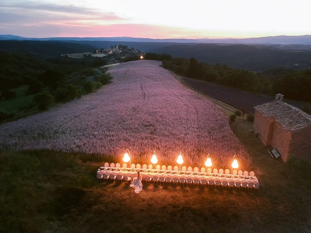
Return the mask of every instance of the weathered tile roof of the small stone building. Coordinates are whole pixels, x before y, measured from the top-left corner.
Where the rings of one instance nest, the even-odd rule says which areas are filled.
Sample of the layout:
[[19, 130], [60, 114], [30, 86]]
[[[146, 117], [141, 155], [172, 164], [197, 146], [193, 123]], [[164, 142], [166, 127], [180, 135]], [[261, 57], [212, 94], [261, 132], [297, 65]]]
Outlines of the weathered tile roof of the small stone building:
[[283, 101], [272, 101], [254, 107], [267, 119], [273, 118], [285, 130], [297, 130], [311, 125], [311, 116]]

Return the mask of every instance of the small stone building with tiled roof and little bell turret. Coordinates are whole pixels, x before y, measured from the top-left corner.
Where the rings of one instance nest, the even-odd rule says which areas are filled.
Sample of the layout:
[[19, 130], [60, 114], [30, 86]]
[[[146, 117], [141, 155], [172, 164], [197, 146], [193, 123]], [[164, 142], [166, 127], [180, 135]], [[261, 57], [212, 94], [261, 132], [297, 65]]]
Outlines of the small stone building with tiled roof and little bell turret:
[[283, 161], [295, 154], [311, 162], [311, 116], [297, 107], [276, 100], [255, 106], [254, 131], [263, 144], [271, 145]]

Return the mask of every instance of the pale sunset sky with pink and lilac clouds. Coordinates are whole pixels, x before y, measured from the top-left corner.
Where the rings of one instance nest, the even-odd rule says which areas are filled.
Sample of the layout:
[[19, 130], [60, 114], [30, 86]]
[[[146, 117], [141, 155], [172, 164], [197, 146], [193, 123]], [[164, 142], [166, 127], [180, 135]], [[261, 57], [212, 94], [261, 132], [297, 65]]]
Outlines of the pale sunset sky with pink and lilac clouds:
[[310, 0], [0, 0], [0, 34], [249, 38], [311, 34]]

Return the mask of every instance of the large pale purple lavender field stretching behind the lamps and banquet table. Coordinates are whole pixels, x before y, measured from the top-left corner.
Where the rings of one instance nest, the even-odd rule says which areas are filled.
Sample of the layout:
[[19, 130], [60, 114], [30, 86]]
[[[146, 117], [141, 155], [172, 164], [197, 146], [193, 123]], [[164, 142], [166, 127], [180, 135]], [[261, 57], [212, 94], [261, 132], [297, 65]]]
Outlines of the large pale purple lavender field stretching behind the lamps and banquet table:
[[0, 149], [52, 149], [111, 155], [121, 162], [230, 168], [234, 154], [241, 169], [250, 159], [220, 107], [181, 85], [158, 61], [122, 63], [109, 71], [113, 82], [96, 93], [37, 115], [0, 126]]

